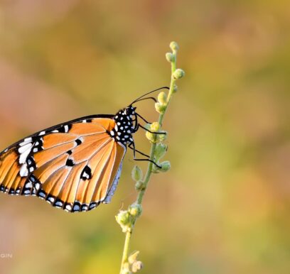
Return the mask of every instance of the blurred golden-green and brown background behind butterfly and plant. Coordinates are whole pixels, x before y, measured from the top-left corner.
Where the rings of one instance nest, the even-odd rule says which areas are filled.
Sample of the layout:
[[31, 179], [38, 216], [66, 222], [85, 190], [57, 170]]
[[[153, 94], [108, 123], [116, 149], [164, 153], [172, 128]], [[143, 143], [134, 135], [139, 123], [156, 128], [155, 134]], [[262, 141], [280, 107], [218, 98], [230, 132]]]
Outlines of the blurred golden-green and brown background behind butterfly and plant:
[[[164, 123], [172, 169], [152, 178], [132, 239], [142, 273], [290, 273], [289, 31], [285, 0], [2, 0], [0, 150], [168, 85], [176, 40], [186, 77]], [[88, 213], [0, 194], [1, 273], [118, 273], [132, 158]]]

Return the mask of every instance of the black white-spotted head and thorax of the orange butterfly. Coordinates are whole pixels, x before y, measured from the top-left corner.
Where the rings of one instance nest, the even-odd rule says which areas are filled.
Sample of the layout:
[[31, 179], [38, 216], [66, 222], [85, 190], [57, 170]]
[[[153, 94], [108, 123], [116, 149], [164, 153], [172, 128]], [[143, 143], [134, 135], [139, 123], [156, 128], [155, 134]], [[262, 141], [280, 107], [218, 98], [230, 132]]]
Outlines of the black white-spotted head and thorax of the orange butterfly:
[[133, 106], [128, 106], [118, 111], [114, 116], [116, 125], [109, 132], [112, 138], [124, 146], [134, 142], [132, 134], [136, 132], [136, 125], [134, 123], [136, 121], [135, 109]]

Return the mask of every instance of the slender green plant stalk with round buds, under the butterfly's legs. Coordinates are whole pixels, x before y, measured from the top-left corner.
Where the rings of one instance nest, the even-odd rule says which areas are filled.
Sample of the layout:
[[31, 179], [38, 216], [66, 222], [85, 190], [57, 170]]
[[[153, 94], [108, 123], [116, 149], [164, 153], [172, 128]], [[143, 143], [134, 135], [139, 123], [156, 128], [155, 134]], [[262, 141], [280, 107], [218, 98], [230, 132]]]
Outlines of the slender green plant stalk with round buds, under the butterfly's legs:
[[[173, 94], [177, 91], [176, 80], [184, 76], [183, 70], [176, 69], [176, 57], [178, 50], [177, 43], [171, 42], [170, 48], [172, 50], [172, 53], [166, 53], [166, 60], [168, 60], [168, 62], [171, 62], [170, 89], [167, 96], [164, 92], [161, 92], [158, 96], [158, 102], [156, 102], [155, 104], [155, 109], [157, 112], [159, 112], [159, 120], [158, 122], [154, 122], [151, 125], [147, 126], [147, 129], [149, 129], [151, 132], [161, 131], [164, 114], [168, 109], [168, 105], [171, 102]], [[117, 214], [116, 216], [117, 222], [122, 227], [122, 231], [126, 233], [120, 274], [136, 273], [142, 267], [141, 262], [137, 261], [137, 255], [139, 251], [136, 251], [129, 256], [131, 234], [133, 233], [136, 220], [141, 215], [141, 203], [144, 198], [144, 194], [148, 187], [152, 173], [165, 172], [170, 169], [170, 163], [168, 161], [159, 163], [159, 160], [163, 157], [163, 155], [165, 155], [167, 150], [167, 146], [163, 144], [166, 135], [149, 133], [147, 131], [146, 137], [151, 142], [149, 159], [154, 161], [155, 163], [158, 163], [161, 168], [157, 168], [156, 165], [154, 165], [152, 162], [149, 162], [144, 179], [142, 179], [142, 171], [138, 166], [135, 166], [132, 170], [132, 177], [136, 181], [136, 190], [138, 191], [136, 202], [134, 202], [134, 204], [131, 204], [129, 206], [129, 209], [120, 211], [119, 214]]]

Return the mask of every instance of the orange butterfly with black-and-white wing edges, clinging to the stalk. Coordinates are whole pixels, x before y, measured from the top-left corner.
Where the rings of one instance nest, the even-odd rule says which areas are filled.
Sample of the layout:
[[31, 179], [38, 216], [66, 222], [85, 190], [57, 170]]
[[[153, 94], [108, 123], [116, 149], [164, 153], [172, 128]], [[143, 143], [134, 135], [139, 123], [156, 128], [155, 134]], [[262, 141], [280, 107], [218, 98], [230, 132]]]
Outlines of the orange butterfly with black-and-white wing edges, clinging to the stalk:
[[[149, 131], [139, 124], [138, 118], [148, 121], [136, 113], [133, 104], [154, 99], [146, 97], [152, 92], [117, 114], [68, 121], [9, 146], [0, 153], [0, 192], [40, 197], [66, 212], [87, 212], [109, 203], [127, 148], [134, 151], [134, 160], [154, 163], [149, 155], [136, 150], [133, 138], [140, 127]], [[136, 152], [146, 159], [136, 159]]]

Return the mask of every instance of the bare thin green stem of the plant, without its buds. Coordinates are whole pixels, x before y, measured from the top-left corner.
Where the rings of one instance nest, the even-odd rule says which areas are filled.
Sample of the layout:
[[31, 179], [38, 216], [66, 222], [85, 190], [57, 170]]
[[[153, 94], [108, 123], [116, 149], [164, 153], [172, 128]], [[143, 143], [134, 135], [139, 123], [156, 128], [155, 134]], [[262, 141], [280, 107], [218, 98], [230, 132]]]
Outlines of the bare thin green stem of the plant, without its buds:
[[[167, 99], [166, 99], [166, 108], [164, 109], [162, 114], [159, 114], [159, 120], [158, 121], [159, 121], [160, 127], [163, 124], [164, 114], [166, 113], [168, 105], [169, 105], [169, 103], [171, 101], [171, 97], [172, 97], [172, 95], [174, 93], [174, 87], [175, 87], [176, 79], [173, 77], [173, 73], [176, 71], [176, 53], [177, 53], [177, 51], [173, 50], [174, 61], [171, 62], [171, 84], [170, 84], [168, 96], [167, 96]], [[150, 150], [150, 158], [149, 158], [152, 161], [154, 161], [154, 155], [155, 155], [155, 152], [156, 152], [155, 150], [156, 150], [156, 143], [152, 143], [151, 144], [151, 150]], [[147, 170], [146, 170], [146, 175], [145, 175], [144, 180], [143, 180], [144, 187], [138, 193], [138, 196], [137, 196], [137, 199], [136, 199], [136, 202], [135, 202], [136, 204], [140, 204], [141, 205], [141, 203], [142, 203], [144, 194], [146, 192], [149, 180], [150, 180], [151, 175], [152, 175], [153, 165], [154, 165], [153, 163], [149, 162]], [[131, 234], [133, 232], [135, 224], [136, 224], [136, 218], [134, 219], [133, 224], [131, 224], [131, 229], [129, 229], [126, 232], [124, 250], [123, 250], [123, 255], [122, 255], [122, 265], [121, 265], [121, 271], [120, 271], [121, 274], [122, 274], [122, 270], [124, 269], [124, 265], [126, 263], [128, 263]]]

